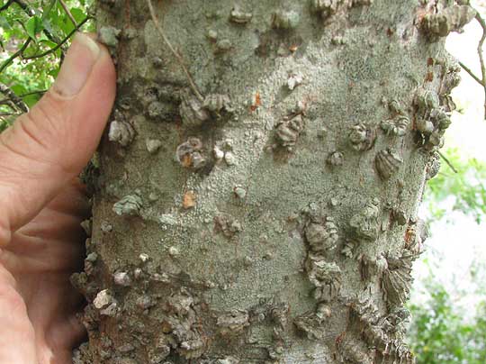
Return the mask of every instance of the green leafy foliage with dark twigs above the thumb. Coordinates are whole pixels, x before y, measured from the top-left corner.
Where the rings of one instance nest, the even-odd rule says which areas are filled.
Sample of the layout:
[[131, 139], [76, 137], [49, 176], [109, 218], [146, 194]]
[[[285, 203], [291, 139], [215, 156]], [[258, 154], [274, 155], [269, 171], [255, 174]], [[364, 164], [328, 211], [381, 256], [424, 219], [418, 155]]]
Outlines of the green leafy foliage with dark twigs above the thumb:
[[0, 0], [0, 86], [7, 89], [0, 100], [0, 131], [49, 88], [76, 30], [94, 30], [90, 5], [91, 0]]

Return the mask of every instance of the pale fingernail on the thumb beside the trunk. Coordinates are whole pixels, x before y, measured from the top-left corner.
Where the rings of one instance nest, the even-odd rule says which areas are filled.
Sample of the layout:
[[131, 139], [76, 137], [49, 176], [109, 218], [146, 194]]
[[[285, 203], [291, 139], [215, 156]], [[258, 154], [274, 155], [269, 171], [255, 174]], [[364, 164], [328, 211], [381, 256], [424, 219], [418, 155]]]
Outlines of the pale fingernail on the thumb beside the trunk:
[[100, 55], [100, 48], [87, 35], [78, 32], [67, 50], [53, 88], [60, 96], [76, 96]]

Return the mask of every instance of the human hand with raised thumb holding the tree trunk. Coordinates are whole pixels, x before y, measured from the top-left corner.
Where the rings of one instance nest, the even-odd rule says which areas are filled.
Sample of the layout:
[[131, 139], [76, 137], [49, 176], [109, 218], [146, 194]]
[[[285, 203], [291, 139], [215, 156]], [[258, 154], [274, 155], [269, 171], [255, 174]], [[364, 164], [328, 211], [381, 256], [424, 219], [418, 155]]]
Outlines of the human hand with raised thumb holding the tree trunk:
[[0, 364], [66, 364], [85, 332], [69, 276], [88, 214], [76, 176], [115, 96], [107, 50], [78, 33], [55, 84], [0, 134]]

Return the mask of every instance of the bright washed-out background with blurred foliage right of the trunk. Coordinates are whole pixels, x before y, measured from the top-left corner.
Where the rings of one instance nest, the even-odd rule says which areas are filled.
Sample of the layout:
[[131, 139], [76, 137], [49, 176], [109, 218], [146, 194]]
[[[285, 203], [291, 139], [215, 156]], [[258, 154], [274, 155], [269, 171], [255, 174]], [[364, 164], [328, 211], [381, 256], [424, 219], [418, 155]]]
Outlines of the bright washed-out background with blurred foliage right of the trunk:
[[[472, 1], [486, 15], [486, 1]], [[446, 42], [457, 59], [481, 75], [478, 23]], [[484, 55], [484, 51], [483, 51]], [[486, 363], [486, 121], [482, 86], [466, 72], [454, 93], [458, 112], [446, 134], [443, 160], [428, 183], [421, 215], [431, 236], [414, 265], [409, 341], [419, 364]]]

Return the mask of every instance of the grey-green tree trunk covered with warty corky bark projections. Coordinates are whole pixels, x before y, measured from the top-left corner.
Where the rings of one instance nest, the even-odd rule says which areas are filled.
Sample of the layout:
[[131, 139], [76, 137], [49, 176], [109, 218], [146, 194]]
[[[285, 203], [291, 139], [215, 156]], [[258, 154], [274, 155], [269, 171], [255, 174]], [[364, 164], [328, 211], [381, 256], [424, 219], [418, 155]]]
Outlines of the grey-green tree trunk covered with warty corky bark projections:
[[[412, 363], [453, 1], [100, 0], [118, 99], [75, 363]], [[171, 50], [172, 49], [172, 50]]]

